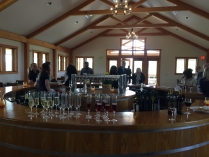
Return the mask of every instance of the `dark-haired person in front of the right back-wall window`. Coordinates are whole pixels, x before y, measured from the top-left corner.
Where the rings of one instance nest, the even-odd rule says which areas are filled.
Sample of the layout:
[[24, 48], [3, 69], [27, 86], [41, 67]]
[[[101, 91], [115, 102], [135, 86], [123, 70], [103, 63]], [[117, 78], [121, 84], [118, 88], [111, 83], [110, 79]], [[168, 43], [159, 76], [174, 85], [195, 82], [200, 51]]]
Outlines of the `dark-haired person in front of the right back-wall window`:
[[197, 80], [195, 80], [192, 77], [192, 70], [186, 69], [186, 70], [184, 70], [183, 74], [184, 74], [184, 78], [181, 80], [181, 85], [186, 86], [188, 89], [190, 86], [192, 86], [196, 89]]

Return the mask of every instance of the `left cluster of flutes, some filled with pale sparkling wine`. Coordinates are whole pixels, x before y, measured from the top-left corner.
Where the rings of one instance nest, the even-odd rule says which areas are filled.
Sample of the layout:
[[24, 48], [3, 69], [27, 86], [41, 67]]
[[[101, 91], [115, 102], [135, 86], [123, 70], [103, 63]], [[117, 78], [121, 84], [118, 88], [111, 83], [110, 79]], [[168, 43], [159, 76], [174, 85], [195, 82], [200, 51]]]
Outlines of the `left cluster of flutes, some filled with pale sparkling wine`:
[[[28, 117], [32, 118], [34, 116], [42, 115], [44, 119], [49, 119], [52, 117], [59, 117], [60, 119], [70, 118], [72, 116], [79, 118], [81, 113], [78, 111], [81, 107], [81, 95], [80, 94], [68, 94], [65, 91], [59, 92], [29, 92], [28, 104], [30, 107], [30, 112]], [[27, 98], [27, 97], [26, 97]], [[37, 107], [41, 105], [42, 111], [37, 112]], [[36, 112], [32, 112], [33, 106], [36, 106]], [[53, 112], [54, 106], [56, 107], [55, 112]], [[76, 114], [72, 112], [73, 106], [76, 109]], [[57, 111], [59, 107], [60, 111]], [[68, 110], [65, 113], [65, 110]]]

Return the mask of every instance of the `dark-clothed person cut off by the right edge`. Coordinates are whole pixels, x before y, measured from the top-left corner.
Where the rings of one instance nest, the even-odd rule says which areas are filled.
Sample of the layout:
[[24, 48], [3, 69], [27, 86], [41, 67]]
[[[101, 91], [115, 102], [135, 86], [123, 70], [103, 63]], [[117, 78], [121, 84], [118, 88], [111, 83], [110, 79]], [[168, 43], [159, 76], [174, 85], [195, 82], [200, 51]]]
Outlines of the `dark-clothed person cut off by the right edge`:
[[209, 97], [209, 67], [203, 71], [203, 78], [200, 79], [200, 89], [205, 97]]

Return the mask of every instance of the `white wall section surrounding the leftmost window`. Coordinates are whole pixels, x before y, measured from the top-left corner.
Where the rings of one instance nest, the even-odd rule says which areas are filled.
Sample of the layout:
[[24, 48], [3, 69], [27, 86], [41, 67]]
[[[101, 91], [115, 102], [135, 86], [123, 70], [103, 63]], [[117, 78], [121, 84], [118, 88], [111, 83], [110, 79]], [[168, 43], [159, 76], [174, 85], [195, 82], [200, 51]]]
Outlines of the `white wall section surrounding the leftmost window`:
[[21, 42], [0, 38], [0, 44], [18, 47], [18, 73], [17, 74], [0, 74], [0, 82], [15, 82], [24, 79], [24, 44]]

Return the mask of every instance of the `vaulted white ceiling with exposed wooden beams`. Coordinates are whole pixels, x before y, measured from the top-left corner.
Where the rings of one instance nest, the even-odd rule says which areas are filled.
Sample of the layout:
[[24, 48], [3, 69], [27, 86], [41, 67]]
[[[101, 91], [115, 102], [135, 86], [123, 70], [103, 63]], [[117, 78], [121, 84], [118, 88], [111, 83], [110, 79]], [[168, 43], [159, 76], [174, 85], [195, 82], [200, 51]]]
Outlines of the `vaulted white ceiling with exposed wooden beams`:
[[171, 35], [209, 50], [208, 0], [128, 2], [131, 14], [113, 16], [114, 0], [0, 0], [0, 37], [12, 33], [74, 50], [100, 36], [125, 37], [134, 28], [139, 36]]

